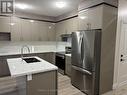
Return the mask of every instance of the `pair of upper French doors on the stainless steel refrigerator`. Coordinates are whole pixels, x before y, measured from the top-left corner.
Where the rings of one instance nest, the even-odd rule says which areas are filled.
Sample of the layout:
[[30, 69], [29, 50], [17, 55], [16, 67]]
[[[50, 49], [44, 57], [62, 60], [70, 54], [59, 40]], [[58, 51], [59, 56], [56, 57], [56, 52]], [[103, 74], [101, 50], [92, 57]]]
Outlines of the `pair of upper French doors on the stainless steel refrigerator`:
[[72, 33], [72, 65], [92, 71], [94, 62], [94, 31]]

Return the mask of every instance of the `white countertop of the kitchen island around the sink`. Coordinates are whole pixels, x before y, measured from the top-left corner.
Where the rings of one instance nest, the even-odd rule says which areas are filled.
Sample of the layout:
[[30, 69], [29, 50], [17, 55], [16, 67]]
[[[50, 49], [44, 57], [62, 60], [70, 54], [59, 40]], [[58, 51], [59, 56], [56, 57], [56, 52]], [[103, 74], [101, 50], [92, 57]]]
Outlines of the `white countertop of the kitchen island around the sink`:
[[7, 59], [11, 77], [31, 75], [35, 73], [42, 73], [58, 69], [55, 65], [39, 57], [34, 56], [34, 58], [37, 58], [41, 62], [29, 64], [23, 61], [21, 58]]

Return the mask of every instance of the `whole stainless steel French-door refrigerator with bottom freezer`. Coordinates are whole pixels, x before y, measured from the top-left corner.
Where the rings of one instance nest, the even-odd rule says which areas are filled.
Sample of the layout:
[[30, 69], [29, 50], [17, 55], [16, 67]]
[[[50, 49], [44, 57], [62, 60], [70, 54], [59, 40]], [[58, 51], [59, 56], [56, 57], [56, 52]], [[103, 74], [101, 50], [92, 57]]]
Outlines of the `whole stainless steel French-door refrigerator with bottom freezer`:
[[72, 33], [71, 83], [88, 95], [99, 95], [101, 30]]

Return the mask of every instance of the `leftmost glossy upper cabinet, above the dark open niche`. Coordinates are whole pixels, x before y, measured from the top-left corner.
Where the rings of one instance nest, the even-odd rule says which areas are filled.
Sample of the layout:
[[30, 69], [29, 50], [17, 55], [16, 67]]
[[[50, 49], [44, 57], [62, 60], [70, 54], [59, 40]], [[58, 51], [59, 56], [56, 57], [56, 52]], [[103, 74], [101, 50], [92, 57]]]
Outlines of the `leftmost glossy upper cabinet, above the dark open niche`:
[[0, 32], [11, 32], [10, 31], [10, 17], [0, 16]]

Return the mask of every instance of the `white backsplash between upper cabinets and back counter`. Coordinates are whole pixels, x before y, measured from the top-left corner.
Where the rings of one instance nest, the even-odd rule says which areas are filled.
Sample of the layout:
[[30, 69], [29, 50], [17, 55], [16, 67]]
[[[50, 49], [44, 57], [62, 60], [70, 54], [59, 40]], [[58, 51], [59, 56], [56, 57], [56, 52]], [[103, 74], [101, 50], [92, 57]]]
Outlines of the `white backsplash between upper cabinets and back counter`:
[[65, 51], [66, 46], [71, 46], [67, 42], [0, 42], [0, 55], [20, 54], [23, 45], [28, 45], [32, 53]]

